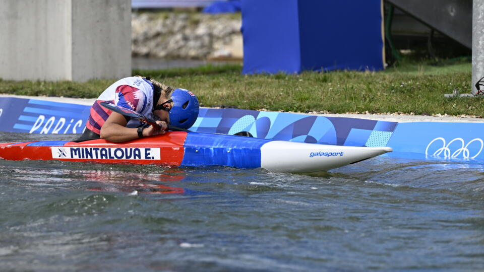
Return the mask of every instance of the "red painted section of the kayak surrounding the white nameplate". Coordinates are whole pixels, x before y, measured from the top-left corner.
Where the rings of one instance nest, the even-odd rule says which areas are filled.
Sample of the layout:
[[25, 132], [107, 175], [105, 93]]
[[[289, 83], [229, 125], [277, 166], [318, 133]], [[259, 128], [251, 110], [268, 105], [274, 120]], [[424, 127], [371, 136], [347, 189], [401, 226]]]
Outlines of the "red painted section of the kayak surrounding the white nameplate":
[[[165, 165], [165, 166], [179, 166], [181, 161], [183, 160], [184, 156], [184, 148], [183, 145], [185, 143], [185, 139], [187, 137], [187, 132], [184, 131], [171, 131], [167, 132], [163, 135], [156, 135], [153, 137], [147, 137], [142, 139], [136, 139], [130, 142], [125, 143], [112, 143], [107, 142], [105, 140], [91, 140], [85, 141], [81, 143], [75, 142], [67, 142], [62, 147], [69, 153], [71, 148], [108, 148], [111, 151], [115, 149], [122, 149], [122, 151], [130, 150], [133, 152], [136, 148], [151, 148], [159, 149], [159, 159], [126, 159], [114, 158], [114, 153], [108, 159], [97, 159], [96, 156], [94, 158], [53, 158], [52, 157], [52, 148], [56, 148], [58, 146], [29, 146], [30, 144], [35, 145], [41, 142], [27, 142], [27, 143], [7, 143], [7, 144], [0, 144], [0, 158], [5, 160], [61, 160], [61, 161], [70, 161], [70, 162], [98, 162], [98, 163], [115, 163], [115, 164], [156, 164], [156, 165]], [[153, 152], [153, 151], [150, 151]], [[79, 153], [80, 154], [80, 153]], [[116, 154], [122, 154], [119, 151]], [[142, 154], [143, 155], [143, 154]], [[81, 157], [81, 156], [79, 156]], [[91, 156], [93, 157], [93, 156]], [[99, 156], [97, 156], [99, 157]], [[122, 157], [122, 156], [119, 156]], [[124, 156], [127, 157], [127, 156]]]

